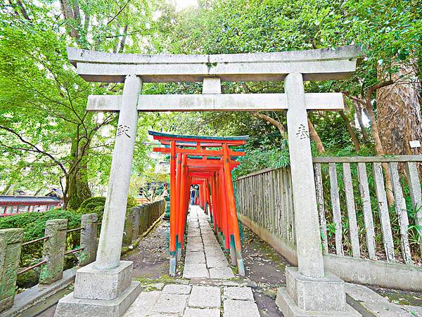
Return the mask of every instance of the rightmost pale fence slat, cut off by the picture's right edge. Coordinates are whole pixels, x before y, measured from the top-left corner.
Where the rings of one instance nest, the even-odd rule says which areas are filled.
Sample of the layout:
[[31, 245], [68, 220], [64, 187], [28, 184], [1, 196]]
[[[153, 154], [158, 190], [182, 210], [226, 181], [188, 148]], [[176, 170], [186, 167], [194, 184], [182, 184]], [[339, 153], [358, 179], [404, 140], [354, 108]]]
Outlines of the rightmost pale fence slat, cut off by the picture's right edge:
[[415, 224], [419, 227], [419, 251], [422, 257], [422, 193], [421, 183], [419, 182], [418, 166], [415, 162], [406, 162], [407, 180], [409, 183], [410, 198], [416, 212]]

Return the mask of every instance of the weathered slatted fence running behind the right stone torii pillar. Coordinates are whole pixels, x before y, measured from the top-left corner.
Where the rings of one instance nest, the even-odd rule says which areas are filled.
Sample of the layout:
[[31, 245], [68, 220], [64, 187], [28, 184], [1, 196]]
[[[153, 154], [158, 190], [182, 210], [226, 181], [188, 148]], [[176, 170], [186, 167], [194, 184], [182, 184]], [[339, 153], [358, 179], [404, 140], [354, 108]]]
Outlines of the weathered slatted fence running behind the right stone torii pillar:
[[[315, 157], [316, 198], [325, 254], [421, 264], [422, 155]], [[395, 204], [388, 206], [385, 171]], [[290, 169], [236, 180], [238, 213], [295, 245]], [[417, 263], [415, 263], [417, 262]]]

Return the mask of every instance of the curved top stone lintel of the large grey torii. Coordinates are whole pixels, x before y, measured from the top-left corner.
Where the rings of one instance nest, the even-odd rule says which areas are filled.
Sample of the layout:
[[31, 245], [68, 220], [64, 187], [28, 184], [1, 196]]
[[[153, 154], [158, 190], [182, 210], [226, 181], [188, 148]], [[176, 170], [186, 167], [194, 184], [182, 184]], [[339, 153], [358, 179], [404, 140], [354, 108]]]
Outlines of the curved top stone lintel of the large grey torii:
[[203, 82], [204, 77], [220, 77], [226, 82], [282, 81], [299, 72], [304, 80], [345, 79], [362, 57], [358, 46], [218, 55], [145, 55], [103, 53], [68, 48], [70, 63], [89, 82], [124, 82], [127, 74], [143, 82]]

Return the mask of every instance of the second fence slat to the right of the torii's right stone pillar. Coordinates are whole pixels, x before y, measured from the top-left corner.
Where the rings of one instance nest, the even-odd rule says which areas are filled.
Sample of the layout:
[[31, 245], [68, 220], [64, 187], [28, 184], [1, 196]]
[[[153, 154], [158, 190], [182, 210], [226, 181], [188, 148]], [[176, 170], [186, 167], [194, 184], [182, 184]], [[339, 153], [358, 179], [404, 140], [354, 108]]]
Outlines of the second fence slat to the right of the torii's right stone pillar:
[[340, 211], [340, 197], [338, 196], [337, 170], [335, 163], [329, 163], [331, 205], [333, 206], [333, 221], [335, 222], [335, 252], [343, 255], [342, 225]]

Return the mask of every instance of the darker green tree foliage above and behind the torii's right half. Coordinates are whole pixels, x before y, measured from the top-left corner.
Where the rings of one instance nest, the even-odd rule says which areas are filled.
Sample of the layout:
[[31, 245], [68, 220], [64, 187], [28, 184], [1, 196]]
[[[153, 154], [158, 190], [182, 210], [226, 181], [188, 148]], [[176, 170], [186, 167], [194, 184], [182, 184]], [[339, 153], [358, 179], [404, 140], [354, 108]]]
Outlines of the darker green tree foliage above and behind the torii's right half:
[[[345, 91], [351, 98], [366, 98], [369, 94], [371, 101], [376, 85], [390, 84], [379, 81], [377, 74], [380, 71], [388, 78], [388, 74], [397, 70], [397, 63], [420, 66], [421, 16], [421, 6], [412, 0], [216, 0], [203, 4], [199, 10], [177, 13], [172, 27], [167, 30], [170, 35], [163, 33], [163, 42], [171, 53], [255, 53], [335, 49], [358, 44], [366, 57], [352, 78], [306, 83], [305, 89], [309, 92]], [[179, 85], [180, 90], [185, 88]], [[283, 85], [279, 83], [224, 83], [222, 88], [225, 93], [283, 92]], [[362, 105], [357, 108], [351, 101], [347, 98], [345, 117], [357, 134], [360, 154], [374, 154], [373, 140], [365, 138], [362, 127], [354, 124], [354, 114], [362, 111]], [[369, 106], [372, 108], [371, 103]], [[267, 112], [265, 115], [283, 125], [286, 122], [282, 112]], [[264, 131], [256, 129], [256, 121], [267, 127], [267, 133], [272, 131], [275, 136], [277, 132], [275, 127], [249, 113], [198, 112], [175, 117], [179, 124], [174, 129], [180, 133], [193, 129], [205, 134], [257, 134], [264, 139]], [[328, 154], [355, 155], [356, 148], [347, 132], [346, 122], [338, 112], [315, 112], [309, 117]], [[262, 145], [253, 139], [252, 148], [262, 149]], [[279, 149], [280, 144], [278, 139], [273, 140], [274, 149]], [[260, 159], [257, 157], [257, 160]], [[261, 167], [260, 164], [257, 166]]]

